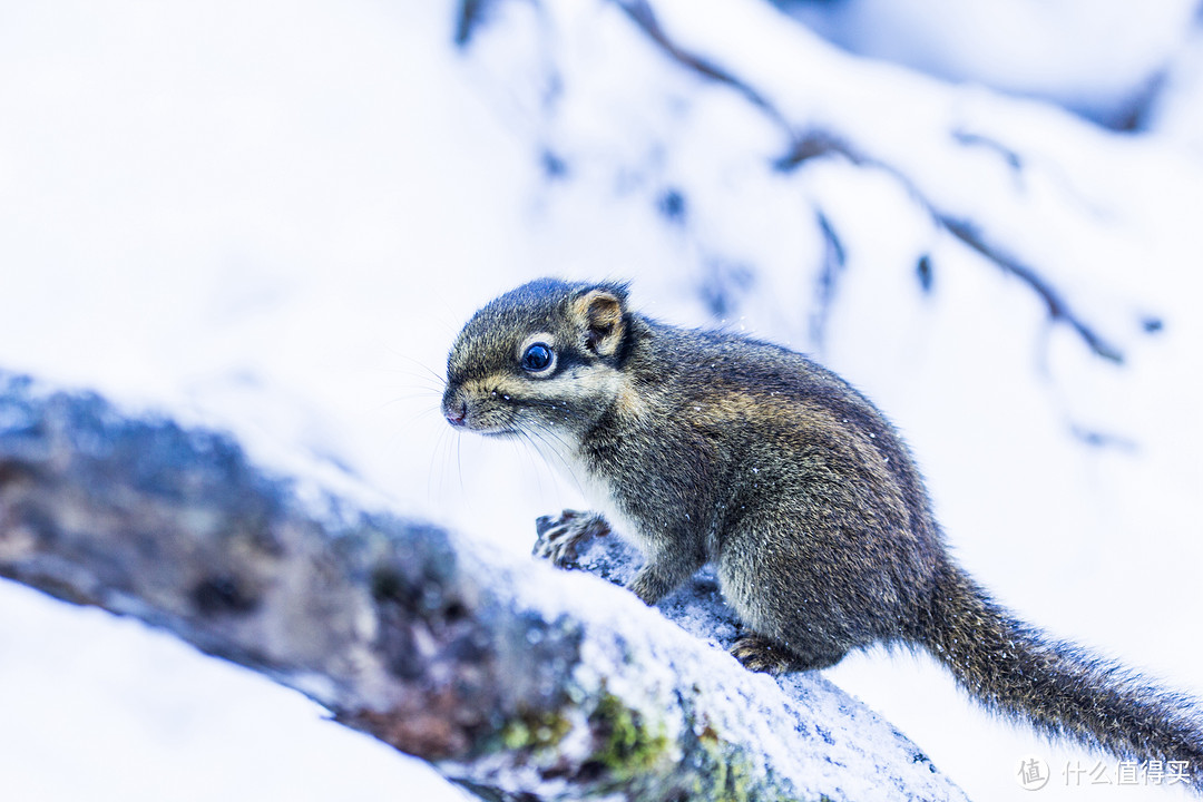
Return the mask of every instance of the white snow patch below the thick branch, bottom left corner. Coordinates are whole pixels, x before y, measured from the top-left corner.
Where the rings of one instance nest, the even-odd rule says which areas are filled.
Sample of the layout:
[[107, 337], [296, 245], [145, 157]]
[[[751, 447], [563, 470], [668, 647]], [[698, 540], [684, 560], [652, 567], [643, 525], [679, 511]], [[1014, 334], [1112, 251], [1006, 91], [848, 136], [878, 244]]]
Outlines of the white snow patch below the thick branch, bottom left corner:
[[11, 800], [467, 800], [313, 702], [131, 620], [0, 584]]

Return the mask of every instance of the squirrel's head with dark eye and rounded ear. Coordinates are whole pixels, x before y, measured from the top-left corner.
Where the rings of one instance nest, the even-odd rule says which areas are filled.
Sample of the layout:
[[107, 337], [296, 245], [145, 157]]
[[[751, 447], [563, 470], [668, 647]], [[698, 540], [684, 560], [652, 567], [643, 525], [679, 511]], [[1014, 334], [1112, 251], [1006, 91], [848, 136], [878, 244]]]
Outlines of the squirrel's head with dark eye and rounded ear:
[[624, 284], [523, 284], [456, 337], [443, 414], [482, 434], [583, 433], [623, 392], [629, 329]]

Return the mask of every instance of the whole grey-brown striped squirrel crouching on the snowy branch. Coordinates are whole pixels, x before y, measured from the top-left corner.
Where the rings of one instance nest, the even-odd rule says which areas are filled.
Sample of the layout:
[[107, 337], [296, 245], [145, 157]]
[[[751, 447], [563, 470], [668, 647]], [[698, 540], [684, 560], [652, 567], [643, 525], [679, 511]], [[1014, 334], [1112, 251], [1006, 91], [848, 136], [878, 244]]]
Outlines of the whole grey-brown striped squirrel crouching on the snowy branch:
[[[952, 558], [914, 458], [847, 381], [789, 349], [629, 308], [628, 285], [540, 279], [481, 308], [448, 357], [452, 427], [521, 436], [600, 513], [565, 512], [553, 562], [615, 530], [652, 605], [712, 563], [747, 669], [921, 647], [988, 708], [1203, 794], [1203, 708], [1017, 619]], [[1184, 766], [1185, 765], [1185, 766]]]

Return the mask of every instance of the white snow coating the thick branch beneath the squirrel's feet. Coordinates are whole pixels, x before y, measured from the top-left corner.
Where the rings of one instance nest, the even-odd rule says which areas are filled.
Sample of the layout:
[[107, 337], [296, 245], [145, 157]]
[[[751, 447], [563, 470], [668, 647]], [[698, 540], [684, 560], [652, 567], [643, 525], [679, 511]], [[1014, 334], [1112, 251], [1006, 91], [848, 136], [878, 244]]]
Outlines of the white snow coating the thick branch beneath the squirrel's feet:
[[[620, 584], [640, 562], [635, 547], [614, 535], [583, 545], [576, 560]], [[485, 569], [493, 574], [505, 563], [491, 554]], [[529, 566], [525, 574], [532, 574]], [[645, 723], [654, 721], [647, 726], [662, 729], [670, 743], [688, 743], [683, 727], [692, 727], [695, 736], [709, 729], [731, 743], [757, 744], [766, 770], [778, 782], [788, 779], [799, 798], [964, 798], [947, 777], [932, 771], [915, 744], [820, 675], [775, 679], [745, 671], [727, 652], [739, 630], [710, 568], [657, 605], [671, 624], [630, 594], [580, 574], [557, 572], [508, 587], [514, 599], [503, 593], [503, 606], [537, 608], [552, 620], [568, 613], [568, 619], [583, 624], [575, 693], [583, 695], [600, 684], [639, 711]], [[583, 754], [573, 755], [574, 749]], [[557, 754], [583, 760], [593, 753], [589, 744], [569, 736]], [[710, 765], [697, 751], [689, 760], [691, 766]], [[741, 771], [737, 755], [730, 766], [723, 771]], [[533, 773], [531, 782], [539, 790], [556, 790], [561, 782], [541, 779], [535, 766], [518, 771], [523, 768]], [[755, 774], [749, 770], [748, 780], [757, 782]], [[638, 791], [629, 796], [644, 798]], [[759, 797], [749, 791], [748, 798]]]

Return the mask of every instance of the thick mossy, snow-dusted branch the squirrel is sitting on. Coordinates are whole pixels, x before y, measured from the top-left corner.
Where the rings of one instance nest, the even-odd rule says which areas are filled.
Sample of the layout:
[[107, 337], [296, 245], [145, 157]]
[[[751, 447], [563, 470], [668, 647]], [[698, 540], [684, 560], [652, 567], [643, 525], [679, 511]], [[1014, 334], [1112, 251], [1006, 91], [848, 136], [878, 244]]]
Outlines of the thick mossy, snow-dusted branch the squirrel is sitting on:
[[[580, 562], [621, 578], [603, 539]], [[229, 436], [0, 374], [0, 575], [161, 626], [485, 798], [964, 798], [819, 677], [662, 605], [251, 465]]]

